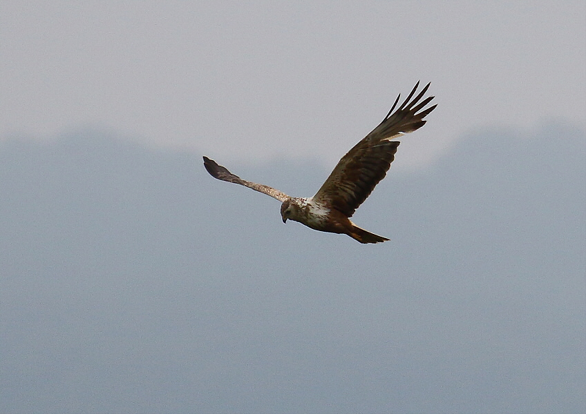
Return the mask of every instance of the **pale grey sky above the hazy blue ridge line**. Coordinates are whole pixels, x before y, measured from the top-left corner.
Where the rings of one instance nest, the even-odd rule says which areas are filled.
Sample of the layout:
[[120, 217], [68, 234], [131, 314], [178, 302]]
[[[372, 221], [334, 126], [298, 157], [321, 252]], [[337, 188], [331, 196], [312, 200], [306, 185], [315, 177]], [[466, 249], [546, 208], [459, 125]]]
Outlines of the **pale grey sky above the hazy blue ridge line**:
[[431, 81], [422, 165], [463, 132], [586, 126], [583, 1], [3, 1], [0, 137], [98, 124], [231, 161], [332, 166]]

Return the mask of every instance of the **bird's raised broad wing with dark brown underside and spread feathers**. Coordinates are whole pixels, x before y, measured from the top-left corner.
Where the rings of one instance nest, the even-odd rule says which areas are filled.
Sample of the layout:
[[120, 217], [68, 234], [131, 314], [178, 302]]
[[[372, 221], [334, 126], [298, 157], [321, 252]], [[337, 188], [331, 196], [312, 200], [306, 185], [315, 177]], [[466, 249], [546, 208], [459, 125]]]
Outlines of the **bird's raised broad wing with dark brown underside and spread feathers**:
[[411, 99], [418, 87], [419, 82], [401, 106], [393, 112], [401, 97], [399, 95], [393, 108], [390, 108], [379, 126], [340, 159], [330, 177], [314, 195], [315, 201], [352, 217], [358, 206], [385, 177], [390, 163], [395, 159], [399, 142], [390, 139], [421, 128], [426, 123], [426, 115], [435, 109], [435, 105], [424, 109], [433, 97], [427, 97], [419, 102], [427, 92], [429, 83], [419, 95]]

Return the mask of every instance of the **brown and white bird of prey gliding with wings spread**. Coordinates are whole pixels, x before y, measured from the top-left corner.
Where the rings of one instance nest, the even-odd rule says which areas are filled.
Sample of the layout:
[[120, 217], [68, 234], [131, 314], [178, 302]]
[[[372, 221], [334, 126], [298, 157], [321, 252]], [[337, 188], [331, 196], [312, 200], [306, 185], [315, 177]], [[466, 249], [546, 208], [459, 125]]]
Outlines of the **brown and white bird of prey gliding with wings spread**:
[[421, 100], [429, 83], [411, 99], [418, 87], [419, 82], [393, 112], [401, 95], [397, 97], [379, 126], [340, 159], [313, 197], [290, 197], [275, 188], [245, 181], [208, 157], [203, 157], [205, 169], [214, 178], [252, 188], [281, 201], [283, 223], [287, 219], [299, 221], [314, 230], [349, 235], [365, 244], [386, 242], [386, 237], [359, 228], [350, 217], [385, 177], [395, 159], [399, 141], [390, 140], [424, 126], [424, 118], [435, 109], [436, 105], [425, 108], [433, 97]]

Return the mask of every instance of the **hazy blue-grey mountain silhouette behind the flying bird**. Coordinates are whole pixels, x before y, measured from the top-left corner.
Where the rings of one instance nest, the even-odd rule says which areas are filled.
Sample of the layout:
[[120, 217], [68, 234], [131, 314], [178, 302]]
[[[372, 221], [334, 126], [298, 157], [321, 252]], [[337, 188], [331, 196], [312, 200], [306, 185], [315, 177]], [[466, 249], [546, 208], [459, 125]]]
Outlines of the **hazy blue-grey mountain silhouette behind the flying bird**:
[[[5, 141], [0, 411], [581, 412], [585, 156], [563, 125], [464, 137], [391, 168], [362, 246], [199, 155]], [[329, 172], [229, 167], [300, 196]]]

